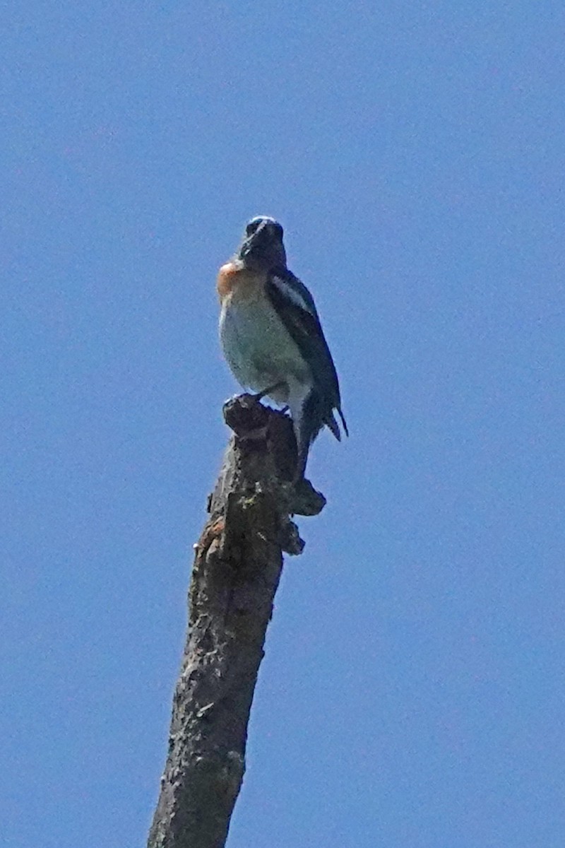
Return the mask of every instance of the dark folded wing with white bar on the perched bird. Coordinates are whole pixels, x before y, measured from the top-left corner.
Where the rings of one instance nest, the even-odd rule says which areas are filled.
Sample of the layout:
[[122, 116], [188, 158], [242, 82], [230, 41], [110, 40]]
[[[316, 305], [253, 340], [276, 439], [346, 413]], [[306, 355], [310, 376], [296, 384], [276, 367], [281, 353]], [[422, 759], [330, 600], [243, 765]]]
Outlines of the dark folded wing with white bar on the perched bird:
[[310, 366], [316, 388], [330, 405], [330, 414], [332, 409], [340, 411], [340, 386], [334, 360], [312, 295], [288, 269], [277, 269], [271, 273], [266, 291], [274, 310]]

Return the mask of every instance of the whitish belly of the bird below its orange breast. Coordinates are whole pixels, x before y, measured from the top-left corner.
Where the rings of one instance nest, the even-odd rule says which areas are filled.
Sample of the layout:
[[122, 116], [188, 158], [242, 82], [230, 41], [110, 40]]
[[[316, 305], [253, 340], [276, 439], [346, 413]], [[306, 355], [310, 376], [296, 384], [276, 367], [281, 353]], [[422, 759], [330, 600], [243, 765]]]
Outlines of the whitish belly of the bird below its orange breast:
[[296, 343], [265, 298], [237, 303], [226, 298], [219, 335], [225, 358], [242, 386], [263, 392], [283, 382], [285, 386], [270, 397], [285, 404], [293, 385], [310, 382], [308, 366]]

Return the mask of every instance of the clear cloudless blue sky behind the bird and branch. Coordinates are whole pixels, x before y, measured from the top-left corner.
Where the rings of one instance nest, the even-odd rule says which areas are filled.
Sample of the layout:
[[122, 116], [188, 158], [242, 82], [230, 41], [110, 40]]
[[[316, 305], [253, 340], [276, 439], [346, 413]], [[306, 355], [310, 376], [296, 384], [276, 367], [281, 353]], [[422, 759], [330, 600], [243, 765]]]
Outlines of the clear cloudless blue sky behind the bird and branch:
[[277, 595], [230, 848], [562, 848], [565, 7], [3, 3], [0, 844], [144, 845], [285, 226], [351, 438]]

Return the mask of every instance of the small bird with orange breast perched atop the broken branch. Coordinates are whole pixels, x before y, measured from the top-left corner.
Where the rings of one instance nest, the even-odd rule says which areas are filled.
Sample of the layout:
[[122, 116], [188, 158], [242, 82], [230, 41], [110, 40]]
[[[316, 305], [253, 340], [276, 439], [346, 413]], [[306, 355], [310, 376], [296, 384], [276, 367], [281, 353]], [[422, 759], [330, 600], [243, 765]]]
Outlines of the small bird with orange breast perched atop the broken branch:
[[286, 265], [278, 220], [257, 215], [239, 248], [219, 269], [219, 338], [235, 379], [257, 399], [291, 414], [296, 436], [294, 482], [304, 477], [311, 444], [328, 427], [346, 436], [340, 385], [313, 296]]

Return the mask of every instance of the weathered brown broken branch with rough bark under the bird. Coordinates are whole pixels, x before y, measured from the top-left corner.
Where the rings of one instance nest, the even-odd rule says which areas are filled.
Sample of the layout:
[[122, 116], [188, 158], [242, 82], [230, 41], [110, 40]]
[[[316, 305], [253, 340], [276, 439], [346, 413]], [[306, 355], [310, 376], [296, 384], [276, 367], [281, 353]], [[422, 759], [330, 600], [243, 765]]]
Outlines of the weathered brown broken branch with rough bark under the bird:
[[195, 545], [189, 627], [169, 754], [148, 848], [221, 848], [245, 771], [247, 722], [282, 552], [303, 543], [289, 515], [324, 497], [291, 486], [290, 420], [249, 395], [224, 406], [234, 431]]

